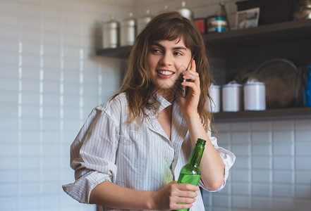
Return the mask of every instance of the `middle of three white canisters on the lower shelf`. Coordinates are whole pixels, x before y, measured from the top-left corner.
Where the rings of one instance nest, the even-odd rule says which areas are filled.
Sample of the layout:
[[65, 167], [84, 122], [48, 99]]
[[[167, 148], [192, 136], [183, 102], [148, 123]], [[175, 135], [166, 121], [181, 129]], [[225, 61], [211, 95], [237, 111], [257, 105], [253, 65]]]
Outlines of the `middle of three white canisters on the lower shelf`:
[[243, 89], [241, 84], [230, 82], [222, 87], [222, 110], [236, 112], [243, 107]]

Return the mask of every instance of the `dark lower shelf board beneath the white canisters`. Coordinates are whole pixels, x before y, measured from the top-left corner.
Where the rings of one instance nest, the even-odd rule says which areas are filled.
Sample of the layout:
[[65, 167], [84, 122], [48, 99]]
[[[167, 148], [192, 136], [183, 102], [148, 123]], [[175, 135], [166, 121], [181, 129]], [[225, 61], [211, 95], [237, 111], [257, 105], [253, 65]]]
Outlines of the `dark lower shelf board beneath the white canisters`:
[[311, 119], [310, 107], [214, 113], [216, 123], [302, 119]]

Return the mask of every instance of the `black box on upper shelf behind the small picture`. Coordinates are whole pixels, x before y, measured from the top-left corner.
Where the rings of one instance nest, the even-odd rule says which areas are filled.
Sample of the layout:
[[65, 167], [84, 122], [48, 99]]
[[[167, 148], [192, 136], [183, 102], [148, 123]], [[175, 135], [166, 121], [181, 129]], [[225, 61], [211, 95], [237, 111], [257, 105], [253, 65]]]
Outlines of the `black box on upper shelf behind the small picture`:
[[260, 8], [258, 25], [293, 20], [293, 0], [251, 0], [236, 2], [238, 11]]

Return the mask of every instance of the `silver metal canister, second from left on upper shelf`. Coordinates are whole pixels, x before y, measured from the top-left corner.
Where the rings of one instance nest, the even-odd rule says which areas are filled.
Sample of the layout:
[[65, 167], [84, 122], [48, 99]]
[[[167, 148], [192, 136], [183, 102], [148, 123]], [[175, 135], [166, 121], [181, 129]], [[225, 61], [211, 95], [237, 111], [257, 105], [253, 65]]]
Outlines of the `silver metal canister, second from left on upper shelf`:
[[136, 20], [133, 13], [129, 14], [129, 18], [123, 20], [120, 26], [121, 42], [120, 46], [133, 46], [136, 38]]

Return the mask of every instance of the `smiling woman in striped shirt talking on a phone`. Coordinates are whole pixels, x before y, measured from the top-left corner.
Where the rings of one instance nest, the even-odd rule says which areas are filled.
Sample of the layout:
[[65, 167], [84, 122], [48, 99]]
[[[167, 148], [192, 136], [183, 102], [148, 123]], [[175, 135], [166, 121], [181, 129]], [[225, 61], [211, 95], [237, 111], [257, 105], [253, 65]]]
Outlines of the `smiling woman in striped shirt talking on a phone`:
[[200, 189], [175, 180], [197, 138], [207, 141], [202, 188], [223, 188], [235, 160], [211, 137], [209, 84], [195, 25], [176, 12], [157, 15], [138, 35], [120, 91], [92, 110], [73, 142], [76, 181], [64, 191], [104, 210], [204, 210]]

